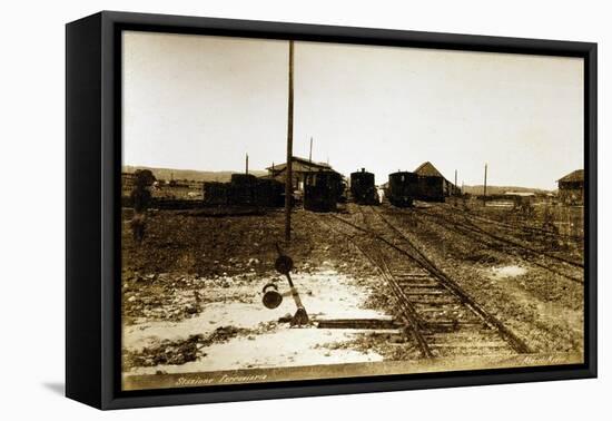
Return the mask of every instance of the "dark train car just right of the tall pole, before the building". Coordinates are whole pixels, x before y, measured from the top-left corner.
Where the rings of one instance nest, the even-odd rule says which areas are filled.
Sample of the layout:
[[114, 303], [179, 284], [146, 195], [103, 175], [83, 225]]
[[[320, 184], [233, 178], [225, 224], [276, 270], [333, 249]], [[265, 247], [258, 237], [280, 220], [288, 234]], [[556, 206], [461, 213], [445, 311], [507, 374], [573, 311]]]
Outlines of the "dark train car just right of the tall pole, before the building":
[[313, 212], [335, 212], [344, 189], [344, 180], [338, 173], [304, 173], [304, 208]]

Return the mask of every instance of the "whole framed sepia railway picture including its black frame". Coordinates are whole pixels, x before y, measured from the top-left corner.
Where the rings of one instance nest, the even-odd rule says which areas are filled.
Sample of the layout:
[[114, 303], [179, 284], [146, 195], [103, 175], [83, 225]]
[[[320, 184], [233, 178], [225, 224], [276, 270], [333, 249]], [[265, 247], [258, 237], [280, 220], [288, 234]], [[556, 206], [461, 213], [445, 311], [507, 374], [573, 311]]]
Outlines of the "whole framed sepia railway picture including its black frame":
[[69, 398], [596, 376], [596, 45], [67, 25]]

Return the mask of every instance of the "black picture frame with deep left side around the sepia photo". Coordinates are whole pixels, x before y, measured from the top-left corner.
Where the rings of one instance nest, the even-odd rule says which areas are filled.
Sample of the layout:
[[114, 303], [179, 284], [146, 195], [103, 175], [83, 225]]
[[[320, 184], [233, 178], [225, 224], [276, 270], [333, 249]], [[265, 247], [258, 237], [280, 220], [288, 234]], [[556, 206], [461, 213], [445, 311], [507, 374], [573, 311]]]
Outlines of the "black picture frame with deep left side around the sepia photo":
[[[584, 59], [584, 364], [125, 392], [120, 384], [122, 30]], [[596, 43], [102, 11], [66, 27], [66, 394], [99, 409], [596, 376]]]

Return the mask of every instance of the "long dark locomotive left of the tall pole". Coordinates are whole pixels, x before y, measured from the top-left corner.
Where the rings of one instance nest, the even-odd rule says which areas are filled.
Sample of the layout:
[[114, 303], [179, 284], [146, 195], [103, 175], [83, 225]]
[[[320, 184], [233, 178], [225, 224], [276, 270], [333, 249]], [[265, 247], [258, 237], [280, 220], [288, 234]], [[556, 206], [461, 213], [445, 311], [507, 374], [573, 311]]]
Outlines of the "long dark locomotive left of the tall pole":
[[277, 207], [285, 203], [285, 186], [270, 178], [233, 174], [229, 183], [204, 183], [206, 206]]

